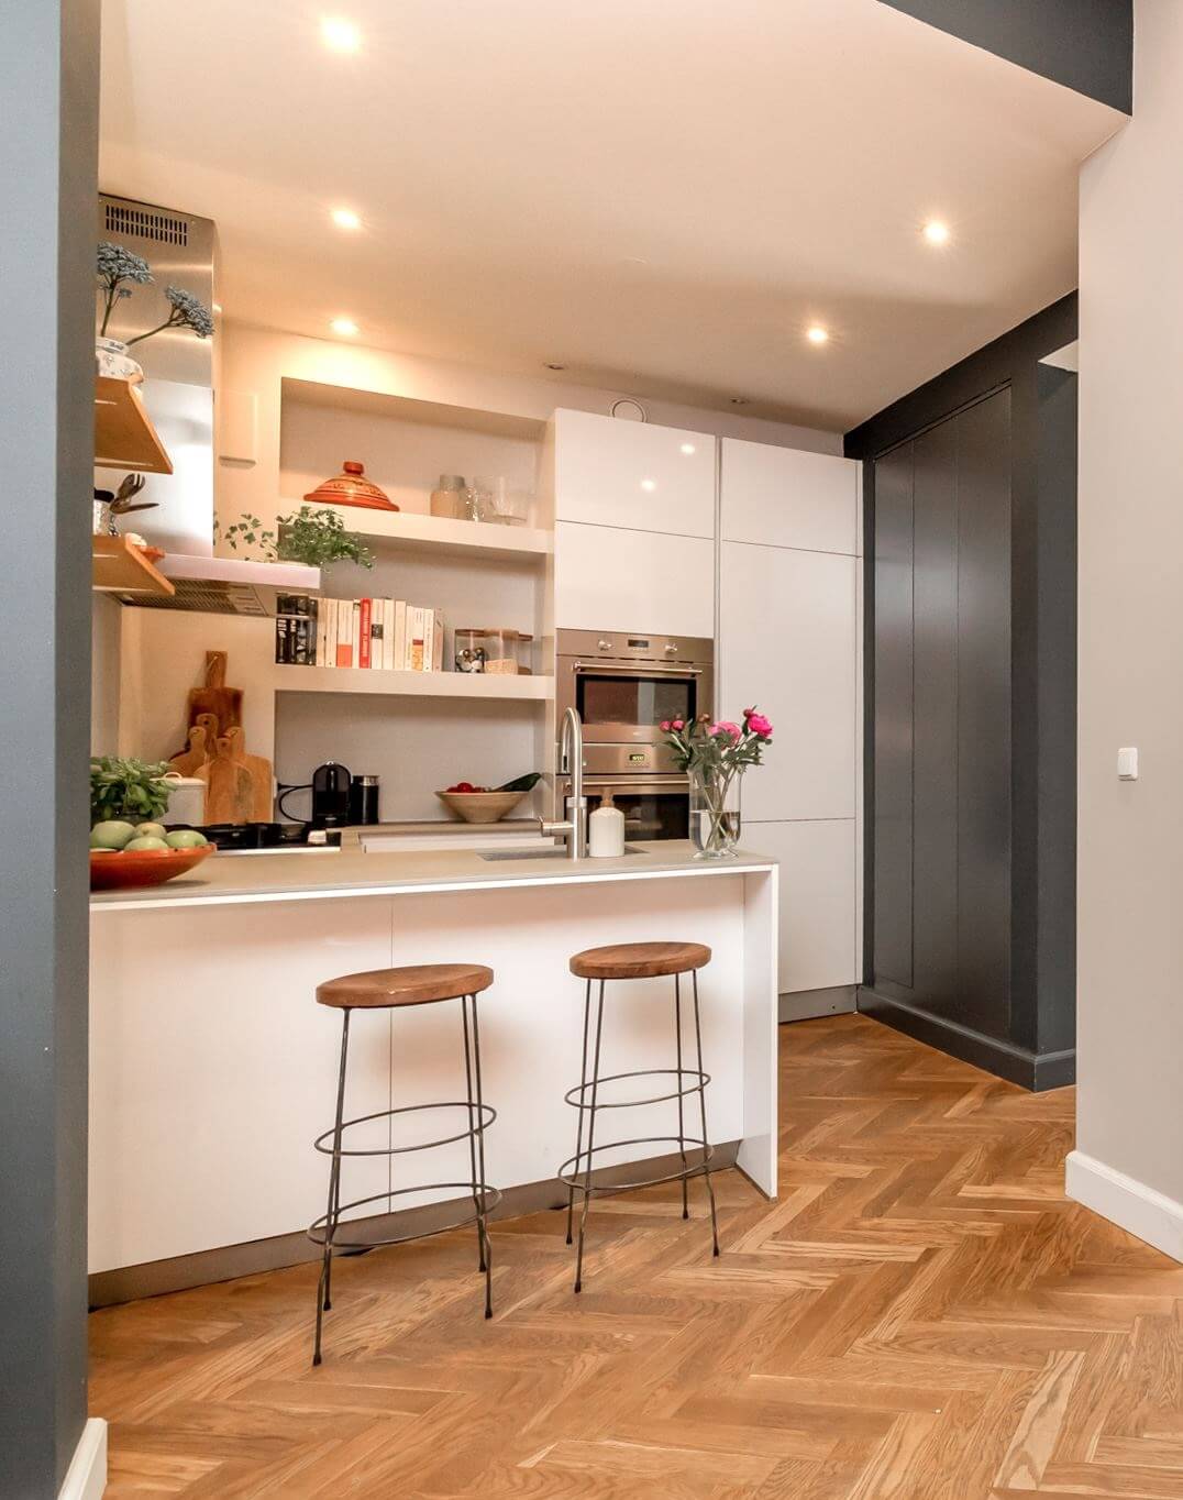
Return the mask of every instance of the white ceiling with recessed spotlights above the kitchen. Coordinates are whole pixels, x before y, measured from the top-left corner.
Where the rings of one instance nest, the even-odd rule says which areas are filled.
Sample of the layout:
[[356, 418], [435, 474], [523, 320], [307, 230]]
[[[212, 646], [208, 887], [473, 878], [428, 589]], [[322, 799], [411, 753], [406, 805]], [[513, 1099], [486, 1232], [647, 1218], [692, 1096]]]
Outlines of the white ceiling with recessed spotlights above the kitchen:
[[1075, 286], [1122, 122], [877, 0], [103, 15], [102, 186], [217, 222], [226, 316], [829, 429]]

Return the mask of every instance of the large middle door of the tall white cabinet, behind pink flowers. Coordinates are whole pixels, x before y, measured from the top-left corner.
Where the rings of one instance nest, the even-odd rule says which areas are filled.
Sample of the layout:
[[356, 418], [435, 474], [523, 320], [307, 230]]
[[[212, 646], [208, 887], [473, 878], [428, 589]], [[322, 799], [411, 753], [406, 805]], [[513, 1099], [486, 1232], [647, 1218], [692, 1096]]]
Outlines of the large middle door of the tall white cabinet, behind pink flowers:
[[775, 728], [744, 778], [745, 819], [853, 818], [858, 788], [856, 560], [724, 542], [718, 708]]

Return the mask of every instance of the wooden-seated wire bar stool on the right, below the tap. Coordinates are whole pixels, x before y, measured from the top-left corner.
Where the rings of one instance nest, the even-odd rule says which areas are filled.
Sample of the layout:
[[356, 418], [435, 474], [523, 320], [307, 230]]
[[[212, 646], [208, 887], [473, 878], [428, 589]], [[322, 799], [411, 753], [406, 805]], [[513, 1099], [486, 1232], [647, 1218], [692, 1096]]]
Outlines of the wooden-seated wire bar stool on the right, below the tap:
[[[687, 1184], [691, 1178], [706, 1180], [706, 1194], [711, 1200], [711, 1240], [714, 1254], [718, 1256], [718, 1218], [715, 1215], [715, 1190], [711, 1182], [711, 1158], [714, 1148], [706, 1138], [706, 1084], [711, 1076], [702, 1066], [702, 1020], [699, 1014], [699, 969], [711, 962], [711, 950], [699, 942], [628, 942], [613, 944], [606, 948], [588, 948], [571, 958], [571, 974], [586, 980], [583, 992], [583, 1066], [580, 1083], [570, 1089], [564, 1098], [579, 1112], [579, 1128], [576, 1134], [576, 1154], [568, 1156], [559, 1167], [559, 1180], [567, 1184], [567, 1244], [571, 1244], [571, 1228], [574, 1220], [576, 1192], [583, 1194], [583, 1209], [579, 1218], [579, 1251], [576, 1254], [576, 1292], [583, 1287], [583, 1236], [588, 1224], [588, 1204], [597, 1192], [622, 1192], [630, 1188], [651, 1188], [660, 1182], [682, 1184], [682, 1218], [690, 1218], [690, 1202]], [[696, 1068], [682, 1066], [682, 975], [690, 974], [694, 1000], [694, 1046], [697, 1054]], [[673, 1026], [676, 1044], [675, 1068], [637, 1068], [631, 1072], [610, 1072], [600, 1076], [600, 1044], [604, 1035], [604, 984], [609, 980], [646, 980], [663, 975], [673, 975]], [[595, 1034], [592, 1044], [592, 1070], [588, 1074], [588, 1042], [591, 1034], [592, 982], [598, 981], [600, 996], [595, 1008]], [[624, 1078], [672, 1078], [673, 1092], [657, 1094], [645, 1100], [621, 1100], [604, 1102], [600, 1100], [600, 1088], [604, 1083], [618, 1083]], [[693, 1080], [693, 1082], [688, 1082]], [[687, 1136], [684, 1101], [687, 1095], [699, 1095], [699, 1114], [702, 1120], [702, 1137]], [[630, 1108], [639, 1104], [661, 1104], [667, 1100], [678, 1101], [678, 1134], [676, 1136], [643, 1136], [634, 1140], [616, 1140], [606, 1144], [595, 1144], [595, 1116], [598, 1110]], [[588, 1118], [588, 1144], [583, 1144], [583, 1118]], [[670, 1172], [660, 1178], [645, 1178], [634, 1182], [592, 1182], [592, 1162], [597, 1154], [612, 1150], [619, 1146], [658, 1146], [676, 1144], [682, 1166], [679, 1172]], [[688, 1152], [702, 1152], [700, 1161], [690, 1161]], [[585, 1166], [586, 1164], [586, 1166]]]

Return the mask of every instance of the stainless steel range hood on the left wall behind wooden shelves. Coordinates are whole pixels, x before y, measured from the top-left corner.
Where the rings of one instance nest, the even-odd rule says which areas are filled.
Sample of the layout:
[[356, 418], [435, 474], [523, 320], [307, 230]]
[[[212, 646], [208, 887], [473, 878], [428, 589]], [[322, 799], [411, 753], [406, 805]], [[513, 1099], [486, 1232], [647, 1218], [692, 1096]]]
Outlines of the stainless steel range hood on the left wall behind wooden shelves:
[[[169, 314], [166, 286], [190, 291], [216, 309], [217, 232], [211, 219], [99, 194], [97, 234], [142, 255], [153, 273], [151, 285], [136, 286], [115, 306], [106, 330], [112, 339], [129, 339], [163, 322]], [[133, 350], [144, 366], [144, 405], [172, 460], [172, 474], [147, 477], [142, 500], [154, 501], [157, 508], [136, 512], [124, 530], [163, 549], [157, 567], [177, 592], [165, 598], [115, 591], [114, 597], [153, 609], [271, 615], [276, 592], [315, 592], [321, 573], [297, 562], [214, 556], [216, 340], [216, 333], [198, 339], [187, 330], [169, 328]], [[99, 489], [117, 489], [121, 477], [118, 470], [94, 470]]]

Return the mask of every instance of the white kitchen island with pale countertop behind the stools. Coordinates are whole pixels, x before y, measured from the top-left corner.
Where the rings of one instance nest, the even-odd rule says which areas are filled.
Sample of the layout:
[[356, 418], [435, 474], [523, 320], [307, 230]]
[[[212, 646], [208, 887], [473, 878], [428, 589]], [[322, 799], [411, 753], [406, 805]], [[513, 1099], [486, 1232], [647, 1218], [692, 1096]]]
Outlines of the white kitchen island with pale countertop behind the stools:
[[[514, 1190], [522, 1206], [538, 1206], [558, 1202], [555, 1172], [574, 1152], [564, 1092], [579, 1082], [583, 986], [570, 956], [615, 942], [708, 944], [714, 958], [699, 980], [709, 1136], [774, 1196], [775, 861], [696, 861], [685, 843], [631, 848], [579, 862], [460, 849], [219, 854], [168, 885], [93, 896], [94, 1299], [310, 1257], [294, 1236], [324, 1210], [327, 1158], [312, 1140], [331, 1124], [340, 1038], [340, 1016], [316, 1005], [315, 988], [360, 969], [495, 970], [480, 996], [484, 1100], [498, 1110], [486, 1176], [507, 1190], [507, 1206]], [[673, 1066], [673, 981], [610, 984], [603, 1047], [603, 1072]], [[355, 1017], [348, 1118], [463, 1094], [459, 1002]], [[670, 1136], [673, 1110], [612, 1110], [606, 1138]], [[394, 1143], [451, 1134], [454, 1122], [403, 1116]], [[381, 1122], [370, 1143], [385, 1144], [388, 1128]], [[604, 1161], [652, 1154], [631, 1148]], [[346, 1200], [466, 1180], [466, 1146], [393, 1166], [358, 1158], [345, 1172]], [[702, 1212], [702, 1186], [691, 1194]]]

